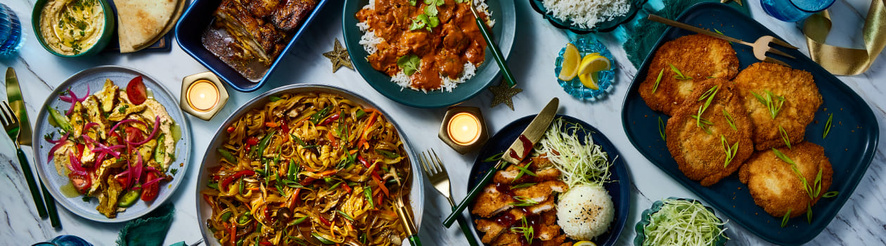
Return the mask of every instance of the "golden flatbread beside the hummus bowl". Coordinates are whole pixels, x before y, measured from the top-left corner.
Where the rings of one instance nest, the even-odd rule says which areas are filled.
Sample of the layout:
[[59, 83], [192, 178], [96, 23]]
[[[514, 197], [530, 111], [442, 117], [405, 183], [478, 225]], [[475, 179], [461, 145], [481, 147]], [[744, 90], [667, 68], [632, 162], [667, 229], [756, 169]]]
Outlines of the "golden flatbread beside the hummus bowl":
[[116, 0], [120, 53], [135, 52], [166, 35], [183, 0]]

